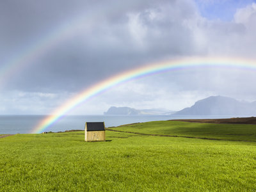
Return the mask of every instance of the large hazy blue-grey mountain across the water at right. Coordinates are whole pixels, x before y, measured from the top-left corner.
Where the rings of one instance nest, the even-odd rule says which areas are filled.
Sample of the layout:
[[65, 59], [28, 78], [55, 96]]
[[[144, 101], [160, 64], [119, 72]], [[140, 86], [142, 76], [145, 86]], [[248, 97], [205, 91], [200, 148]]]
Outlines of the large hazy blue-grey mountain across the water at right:
[[241, 102], [230, 97], [211, 96], [198, 100], [191, 108], [177, 111], [174, 115], [256, 115], [255, 102]]

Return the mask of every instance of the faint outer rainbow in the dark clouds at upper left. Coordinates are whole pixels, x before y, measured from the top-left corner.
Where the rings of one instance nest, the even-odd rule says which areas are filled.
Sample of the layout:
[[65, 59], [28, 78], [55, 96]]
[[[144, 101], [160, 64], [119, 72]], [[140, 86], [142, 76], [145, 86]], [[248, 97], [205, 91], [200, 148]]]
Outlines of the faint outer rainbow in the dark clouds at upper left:
[[40, 38], [28, 42], [26, 47], [22, 47], [9, 60], [1, 64], [0, 86], [1, 83], [6, 83], [6, 80], [12, 78], [15, 73], [28, 67], [29, 64], [34, 63], [36, 59], [49, 52], [56, 45], [73, 38], [76, 34], [81, 33], [81, 31], [90, 31], [95, 24], [93, 24], [93, 20], [92, 22], [85, 21], [86, 17], [84, 14], [77, 15], [72, 20], [65, 20], [56, 26], [56, 28], [49, 30], [49, 33], [40, 36]]

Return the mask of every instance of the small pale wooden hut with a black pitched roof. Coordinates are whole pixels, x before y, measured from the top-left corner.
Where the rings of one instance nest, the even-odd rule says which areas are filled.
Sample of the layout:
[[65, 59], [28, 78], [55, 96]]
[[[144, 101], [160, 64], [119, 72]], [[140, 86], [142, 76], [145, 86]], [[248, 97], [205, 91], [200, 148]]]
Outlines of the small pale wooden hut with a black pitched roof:
[[104, 122], [86, 122], [84, 128], [85, 141], [106, 141]]

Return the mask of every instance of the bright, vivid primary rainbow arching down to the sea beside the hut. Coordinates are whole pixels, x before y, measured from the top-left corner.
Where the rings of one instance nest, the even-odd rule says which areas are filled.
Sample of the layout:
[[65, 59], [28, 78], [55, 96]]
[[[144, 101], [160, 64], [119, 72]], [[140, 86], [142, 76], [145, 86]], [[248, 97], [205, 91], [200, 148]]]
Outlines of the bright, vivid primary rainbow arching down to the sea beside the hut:
[[71, 109], [79, 106], [79, 104], [83, 102], [86, 102], [86, 100], [97, 96], [99, 93], [109, 90], [109, 88], [112, 88], [113, 86], [125, 83], [138, 77], [191, 67], [235, 67], [247, 70], [255, 70], [256, 61], [239, 58], [182, 58], [163, 61], [160, 63], [152, 63], [142, 67], [134, 68], [132, 70], [117, 74], [116, 76], [109, 77], [104, 81], [94, 84], [90, 88], [86, 88], [86, 90], [83, 92], [78, 93], [75, 97], [72, 97], [65, 104], [53, 111], [52, 115], [49, 115], [44, 120], [42, 120], [40, 124], [31, 130], [31, 133], [43, 132], [45, 129], [47, 129], [47, 127], [54, 124], [54, 122], [67, 114]]

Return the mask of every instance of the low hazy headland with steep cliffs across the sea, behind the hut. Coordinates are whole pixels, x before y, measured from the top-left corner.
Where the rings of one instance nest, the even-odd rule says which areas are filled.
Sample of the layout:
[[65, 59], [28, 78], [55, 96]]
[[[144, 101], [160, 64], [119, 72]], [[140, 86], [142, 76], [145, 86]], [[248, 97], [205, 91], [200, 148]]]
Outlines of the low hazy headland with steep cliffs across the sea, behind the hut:
[[104, 112], [104, 115], [170, 115], [174, 112], [167, 109], [134, 109], [112, 106], [108, 111]]

